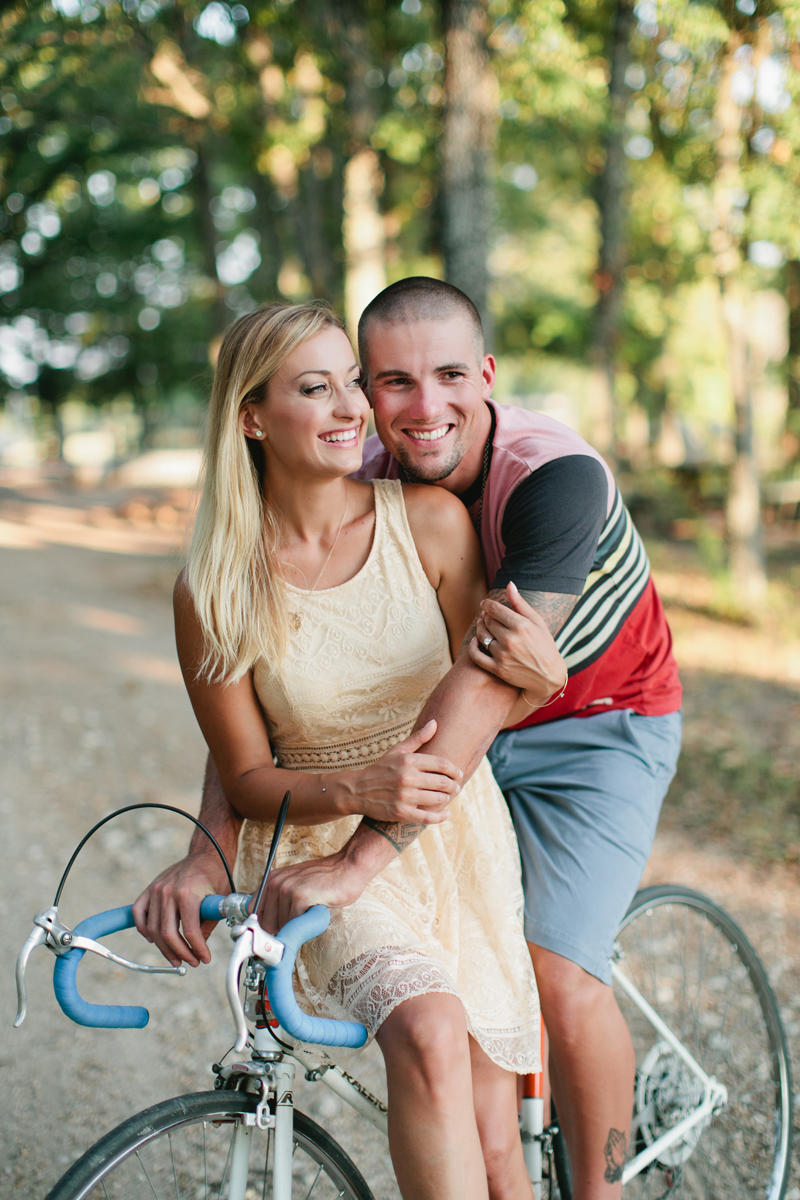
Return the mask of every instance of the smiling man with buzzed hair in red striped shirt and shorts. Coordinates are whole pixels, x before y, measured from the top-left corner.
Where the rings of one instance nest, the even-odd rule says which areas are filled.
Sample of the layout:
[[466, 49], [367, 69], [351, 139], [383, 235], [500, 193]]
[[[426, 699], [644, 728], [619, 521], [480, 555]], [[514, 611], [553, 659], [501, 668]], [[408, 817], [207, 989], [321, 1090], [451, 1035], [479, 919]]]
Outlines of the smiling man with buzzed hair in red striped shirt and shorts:
[[[525, 934], [575, 1195], [612, 1200], [621, 1194], [633, 1050], [608, 960], [680, 744], [663, 610], [600, 456], [558, 422], [491, 401], [494, 359], [463, 293], [427, 278], [392, 284], [365, 311], [359, 342], [378, 430], [360, 478], [445, 487], [481, 538], [489, 596], [417, 728], [435, 718], [426, 752], [465, 773], [491, 745], [519, 839]], [[564, 686], [564, 676], [553, 679], [542, 623], [569, 667]], [[531, 715], [495, 737], [525, 680], [535, 684]], [[239, 822], [213, 782], [203, 811], [235, 856]], [[315, 901], [351, 902], [423, 828], [366, 817], [335, 860], [278, 872], [270, 920]], [[203, 893], [203, 878], [211, 884], [209, 864], [194, 841], [190, 859], [137, 902], [139, 928], [173, 960], [207, 959], [190, 896]]]

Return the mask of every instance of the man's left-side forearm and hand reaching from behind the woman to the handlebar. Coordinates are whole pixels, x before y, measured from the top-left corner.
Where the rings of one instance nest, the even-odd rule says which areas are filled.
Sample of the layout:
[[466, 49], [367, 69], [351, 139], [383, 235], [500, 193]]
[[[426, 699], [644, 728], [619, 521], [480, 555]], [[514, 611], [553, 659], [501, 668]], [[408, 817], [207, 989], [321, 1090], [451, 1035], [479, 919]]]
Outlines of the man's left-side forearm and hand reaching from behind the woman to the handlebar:
[[[217, 839], [233, 870], [242, 818], [228, 802], [211, 755], [205, 766], [199, 820]], [[186, 858], [162, 871], [133, 905], [136, 926], [173, 966], [210, 962], [206, 940], [215, 923], [200, 923], [199, 901], [206, 895], [227, 895], [229, 890], [219, 856], [196, 827]]]

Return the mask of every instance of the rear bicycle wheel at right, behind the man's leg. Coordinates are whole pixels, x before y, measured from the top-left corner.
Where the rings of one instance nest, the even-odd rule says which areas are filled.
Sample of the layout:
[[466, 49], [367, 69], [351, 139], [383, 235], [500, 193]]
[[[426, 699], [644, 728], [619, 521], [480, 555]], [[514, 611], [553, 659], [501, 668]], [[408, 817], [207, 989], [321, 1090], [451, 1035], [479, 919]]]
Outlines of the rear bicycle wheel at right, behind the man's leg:
[[[792, 1153], [792, 1076], [775, 996], [741, 929], [706, 896], [663, 884], [633, 898], [621, 968], [728, 1103], [636, 1176], [625, 1198], [781, 1200]], [[615, 988], [636, 1048], [628, 1157], [702, 1098], [682, 1060]]]

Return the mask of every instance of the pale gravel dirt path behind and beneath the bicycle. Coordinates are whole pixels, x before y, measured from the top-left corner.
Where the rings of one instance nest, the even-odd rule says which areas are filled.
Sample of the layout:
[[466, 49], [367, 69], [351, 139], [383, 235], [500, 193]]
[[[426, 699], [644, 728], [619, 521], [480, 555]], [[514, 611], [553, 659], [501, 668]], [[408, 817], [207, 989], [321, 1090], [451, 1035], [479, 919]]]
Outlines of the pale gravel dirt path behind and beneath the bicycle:
[[[212, 966], [190, 979], [143, 980], [116, 968], [82, 967], [90, 998], [148, 1004], [151, 1022], [137, 1033], [67, 1022], [53, 998], [52, 960], [40, 950], [28, 1020], [11, 1028], [13, 962], [30, 917], [52, 902], [66, 858], [90, 823], [139, 800], [197, 810], [204, 746], [172, 637], [176, 536], [169, 523], [148, 523], [142, 514], [138, 523], [124, 521], [108, 505], [73, 506], [59, 497], [4, 502], [0, 494], [0, 1200], [43, 1196], [73, 1158], [125, 1116], [210, 1086], [209, 1064], [229, 1044], [218, 934]], [[696, 688], [687, 677], [690, 739], [708, 718], [703, 671]], [[694, 695], [703, 712], [694, 712]], [[103, 830], [70, 881], [65, 919], [130, 902], [180, 854], [182, 826], [178, 817], [137, 812]], [[740, 917], [778, 992], [800, 1072], [796, 876], [789, 868], [750, 868], [720, 840], [704, 845], [667, 822], [648, 868], [648, 882], [656, 880], [708, 890]], [[119, 944], [144, 956], [133, 932]], [[357, 1073], [380, 1086], [374, 1055]], [[303, 1084], [301, 1091], [301, 1106], [341, 1135], [378, 1200], [397, 1196], [379, 1136], [366, 1127], [356, 1132], [355, 1118], [342, 1115], [321, 1087]]]

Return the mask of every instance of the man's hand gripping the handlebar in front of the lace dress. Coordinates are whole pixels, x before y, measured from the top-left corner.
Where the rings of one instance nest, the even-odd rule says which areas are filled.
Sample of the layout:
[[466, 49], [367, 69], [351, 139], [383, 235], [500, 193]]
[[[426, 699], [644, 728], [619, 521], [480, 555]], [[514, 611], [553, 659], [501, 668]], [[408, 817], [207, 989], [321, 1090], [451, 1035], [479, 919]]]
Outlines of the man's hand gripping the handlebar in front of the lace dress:
[[277, 934], [315, 904], [344, 908], [359, 899], [373, 874], [354, 862], [347, 846], [327, 858], [272, 870], [258, 913], [261, 928]]

